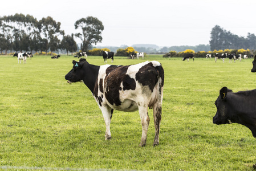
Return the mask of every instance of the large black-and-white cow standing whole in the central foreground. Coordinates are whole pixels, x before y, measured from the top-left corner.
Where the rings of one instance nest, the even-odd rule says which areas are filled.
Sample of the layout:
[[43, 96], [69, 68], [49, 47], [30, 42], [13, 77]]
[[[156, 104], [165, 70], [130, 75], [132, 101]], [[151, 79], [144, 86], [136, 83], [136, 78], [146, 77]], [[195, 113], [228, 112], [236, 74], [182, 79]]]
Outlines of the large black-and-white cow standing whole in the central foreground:
[[140, 146], [147, 141], [149, 125], [148, 107], [153, 107], [155, 139], [159, 144], [164, 70], [157, 61], [131, 66], [94, 66], [86, 59], [73, 60], [73, 68], [65, 76], [68, 83], [83, 81], [91, 90], [105, 120], [105, 140], [111, 139], [110, 123], [113, 110], [133, 112], [139, 110], [142, 124]]

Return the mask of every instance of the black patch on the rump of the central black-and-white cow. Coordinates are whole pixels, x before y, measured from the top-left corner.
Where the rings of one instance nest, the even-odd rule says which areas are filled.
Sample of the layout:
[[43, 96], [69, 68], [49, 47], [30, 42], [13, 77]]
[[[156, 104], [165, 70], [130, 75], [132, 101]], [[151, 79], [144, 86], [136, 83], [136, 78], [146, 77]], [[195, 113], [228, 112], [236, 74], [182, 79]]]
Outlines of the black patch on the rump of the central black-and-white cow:
[[136, 74], [136, 80], [143, 86], [148, 86], [153, 92], [154, 87], [158, 81], [159, 72], [153, 67], [152, 63], [148, 63], [141, 67]]

